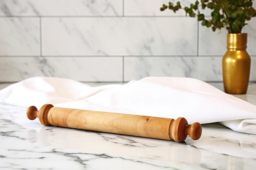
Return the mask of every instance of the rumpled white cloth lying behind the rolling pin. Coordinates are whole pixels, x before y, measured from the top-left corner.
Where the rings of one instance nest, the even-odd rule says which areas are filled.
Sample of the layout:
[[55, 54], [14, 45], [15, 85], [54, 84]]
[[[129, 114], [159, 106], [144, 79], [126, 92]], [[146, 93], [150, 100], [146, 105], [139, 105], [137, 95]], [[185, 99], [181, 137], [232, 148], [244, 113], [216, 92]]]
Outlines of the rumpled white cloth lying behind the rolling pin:
[[44, 104], [177, 119], [189, 124], [220, 122], [256, 134], [256, 106], [202, 82], [184, 77], [146, 77], [127, 84], [91, 87], [71, 79], [32, 77], [0, 91], [0, 102]]

